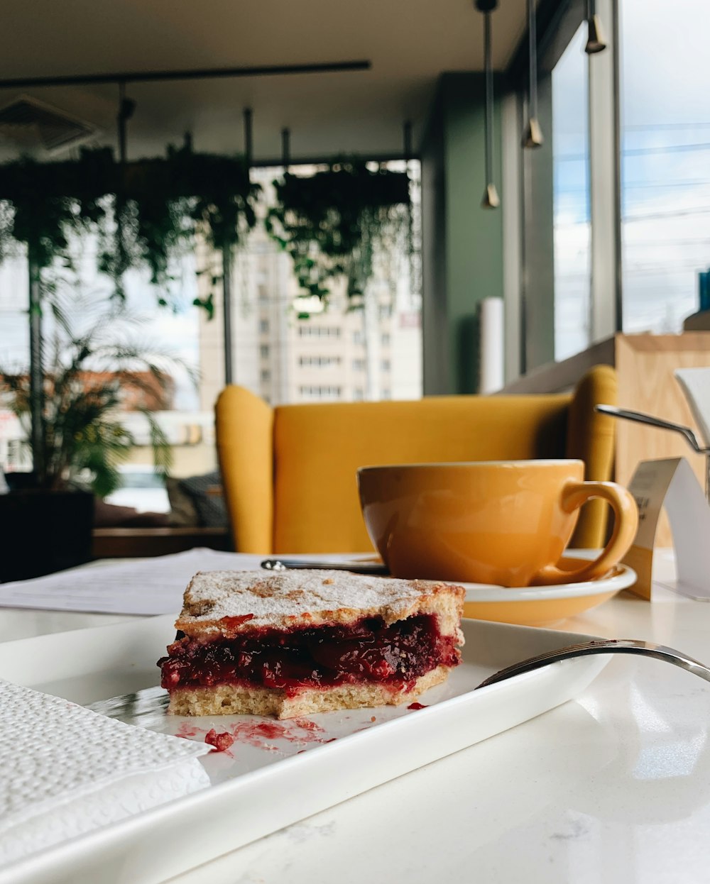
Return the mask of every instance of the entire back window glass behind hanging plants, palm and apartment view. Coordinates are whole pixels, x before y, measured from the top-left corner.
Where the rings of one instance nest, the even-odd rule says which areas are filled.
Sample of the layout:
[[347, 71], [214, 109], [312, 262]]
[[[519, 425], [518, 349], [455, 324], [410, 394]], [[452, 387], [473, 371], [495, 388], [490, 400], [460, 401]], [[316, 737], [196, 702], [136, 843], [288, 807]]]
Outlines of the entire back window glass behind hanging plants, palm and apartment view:
[[[404, 163], [396, 164], [395, 170], [405, 171]], [[254, 171], [267, 196], [278, 171]], [[410, 175], [418, 176], [418, 171], [418, 164], [412, 162]], [[258, 212], [263, 219], [265, 202]], [[148, 269], [126, 271], [122, 280], [125, 304], [135, 320], [126, 323], [122, 317], [107, 319], [111, 305], [118, 301], [114, 281], [97, 270], [103, 248], [105, 244], [95, 234], [70, 235], [71, 260], [57, 260], [46, 271], [45, 281], [52, 283], [53, 298], [66, 307], [72, 321], [70, 331], [61, 318], [57, 320], [46, 301], [42, 332], [49, 361], [47, 383], [50, 377], [62, 376], [61, 369], [73, 362], [70, 351], [73, 355], [77, 347], [72, 349], [72, 340], [76, 343], [94, 329], [92, 352], [81, 357], [73, 378], [73, 408], [79, 415], [75, 403], [81, 399], [88, 400], [88, 407], [95, 410], [92, 392], [115, 393], [118, 401], [111, 400], [110, 408], [104, 408], [104, 413], [107, 408], [110, 412], [106, 421], [120, 424], [135, 443], [130, 452], [117, 452], [118, 443], [113, 448], [96, 446], [110, 449], [110, 466], [117, 466], [120, 474], [114, 481], [111, 469], [104, 469], [103, 476], [108, 478], [97, 492], [110, 505], [167, 514], [171, 501], [155, 469], [151, 424], [144, 412], [151, 413], [153, 425], [163, 432], [172, 450], [173, 479], [211, 477], [217, 470], [214, 405], [225, 385], [222, 255], [207, 240], [198, 240], [194, 253], [171, 258], [164, 289], [160, 290], [150, 284]], [[233, 382], [247, 386], [273, 404], [418, 398], [422, 392], [421, 298], [418, 289], [413, 293], [410, 287], [408, 248], [400, 243], [381, 258], [375, 250], [372, 263], [374, 271], [364, 309], [352, 309], [340, 281], [332, 286], [329, 309], [322, 309], [317, 299], [316, 304], [303, 303], [296, 297], [299, 288], [291, 258], [271, 239], [263, 224], [257, 224], [233, 260]], [[19, 255], [17, 260], [0, 265], [0, 370], [7, 365], [8, 373], [19, 377], [28, 377], [27, 288], [26, 257]], [[50, 289], [46, 291], [49, 299]], [[209, 318], [205, 310], [194, 306], [194, 301], [204, 301], [212, 293], [215, 316]], [[158, 305], [159, 297], [164, 298], [167, 307]], [[126, 356], [133, 344], [152, 357], [155, 365], [164, 366], [161, 373], [166, 383], [162, 388], [156, 375], [146, 370], [149, 367], [136, 362], [130, 353]], [[118, 355], [116, 347], [121, 350]], [[54, 354], [58, 354], [57, 360]], [[165, 356], [173, 358], [165, 360]], [[358, 361], [362, 370], [352, 370]], [[138, 389], [129, 383], [127, 371], [141, 374]], [[58, 394], [49, 399], [60, 407]], [[0, 468], [28, 470], [31, 463], [27, 446], [20, 444], [27, 434], [11, 415], [8, 404], [0, 399]], [[65, 408], [65, 413], [68, 410]], [[98, 438], [95, 420], [92, 432]], [[78, 432], [73, 438], [82, 441]], [[124, 439], [124, 447], [128, 446], [118, 428], [112, 429], [107, 438]], [[74, 458], [73, 479], [91, 481], [92, 472], [96, 473], [95, 461], [91, 470], [84, 468], [86, 462]], [[169, 487], [180, 503], [179, 492], [184, 489], [177, 489], [175, 483]], [[105, 520], [119, 516], [133, 518], [111, 507], [102, 507], [101, 511], [103, 524], [114, 524]], [[202, 514], [194, 515], [202, 518]]]

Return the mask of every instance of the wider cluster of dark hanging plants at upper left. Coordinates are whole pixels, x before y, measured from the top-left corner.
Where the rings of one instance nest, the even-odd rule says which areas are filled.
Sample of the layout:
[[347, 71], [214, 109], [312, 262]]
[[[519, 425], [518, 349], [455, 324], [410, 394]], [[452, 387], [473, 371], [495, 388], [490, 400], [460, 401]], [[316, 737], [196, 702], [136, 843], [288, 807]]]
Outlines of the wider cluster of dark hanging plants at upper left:
[[[240, 157], [196, 154], [189, 138], [160, 158], [119, 164], [111, 149], [82, 149], [76, 160], [0, 165], [0, 261], [18, 243], [35, 267], [71, 262], [69, 240], [93, 232], [98, 270], [114, 279], [147, 266], [169, 303], [170, 266], [200, 234], [233, 248], [256, 224], [259, 187]], [[210, 304], [196, 301], [210, 312]]]

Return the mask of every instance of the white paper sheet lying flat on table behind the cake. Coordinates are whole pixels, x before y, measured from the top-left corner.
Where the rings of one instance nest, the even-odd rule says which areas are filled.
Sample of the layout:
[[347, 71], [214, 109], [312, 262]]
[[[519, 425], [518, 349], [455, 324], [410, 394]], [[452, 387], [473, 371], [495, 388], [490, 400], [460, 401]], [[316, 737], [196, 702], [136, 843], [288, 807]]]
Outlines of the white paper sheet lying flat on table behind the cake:
[[0, 583], [0, 607], [91, 613], [178, 613], [182, 594], [197, 571], [256, 570], [263, 556], [194, 549], [63, 571], [33, 580]]

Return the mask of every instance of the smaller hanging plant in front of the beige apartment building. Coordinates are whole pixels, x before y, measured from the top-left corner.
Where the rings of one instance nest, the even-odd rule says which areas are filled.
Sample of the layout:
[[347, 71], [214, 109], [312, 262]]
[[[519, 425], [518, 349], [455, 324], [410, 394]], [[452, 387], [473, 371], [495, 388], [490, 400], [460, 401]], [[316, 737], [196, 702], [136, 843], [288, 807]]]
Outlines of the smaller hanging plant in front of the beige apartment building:
[[321, 301], [338, 277], [347, 278], [348, 298], [364, 295], [376, 255], [409, 238], [406, 172], [351, 160], [308, 178], [286, 172], [274, 187], [266, 229], [291, 255], [303, 293]]

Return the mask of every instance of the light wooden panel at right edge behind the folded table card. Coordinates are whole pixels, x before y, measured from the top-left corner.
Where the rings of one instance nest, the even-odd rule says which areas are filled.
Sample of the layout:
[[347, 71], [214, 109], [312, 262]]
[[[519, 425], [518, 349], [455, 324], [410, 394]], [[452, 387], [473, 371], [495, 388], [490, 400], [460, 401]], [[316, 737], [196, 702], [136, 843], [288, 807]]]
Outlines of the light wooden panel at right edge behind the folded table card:
[[[673, 372], [710, 366], [710, 331], [686, 331], [680, 335], [618, 334], [615, 366], [620, 408], [644, 411], [699, 432]], [[683, 437], [641, 423], [616, 422], [617, 482], [629, 484], [639, 461], [666, 457], [686, 458], [700, 487], [705, 487], [705, 457], [693, 452]], [[659, 522], [656, 545], [673, 545], [665, 515]]]

